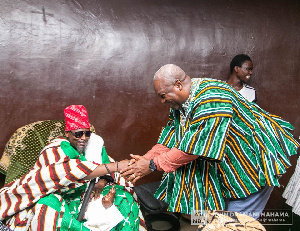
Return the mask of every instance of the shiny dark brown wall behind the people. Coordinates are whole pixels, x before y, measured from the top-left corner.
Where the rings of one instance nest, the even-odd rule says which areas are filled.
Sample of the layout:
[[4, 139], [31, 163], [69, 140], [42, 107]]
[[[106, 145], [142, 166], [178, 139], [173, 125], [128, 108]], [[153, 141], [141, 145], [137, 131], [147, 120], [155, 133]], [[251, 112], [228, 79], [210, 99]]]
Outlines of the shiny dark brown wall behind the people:
[[83, 104], [111, 156], [144, 154], [168, 116], [155, 71], [226, 79], [238, 53], [254, 61], [258, 104], [298, 138], [299, 21], [297, 0], [1, 0], [0, 153], [18, 127]]

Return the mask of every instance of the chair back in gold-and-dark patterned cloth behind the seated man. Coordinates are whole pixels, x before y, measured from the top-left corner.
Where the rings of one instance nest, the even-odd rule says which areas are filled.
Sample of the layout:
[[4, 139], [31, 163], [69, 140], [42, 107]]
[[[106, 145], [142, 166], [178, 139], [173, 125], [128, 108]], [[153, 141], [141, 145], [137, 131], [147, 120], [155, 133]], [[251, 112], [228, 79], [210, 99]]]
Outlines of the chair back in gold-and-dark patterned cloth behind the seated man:
[[[94, 126], [90, 126], [95, 132]], [[57, 136], [63, 136], [64, 129], [64, 120], [38, 121], [17, 129], [5, 145], [0, 160], [0, 172], [6, 175], [4, 184], [27, 173], [46, 144]]]

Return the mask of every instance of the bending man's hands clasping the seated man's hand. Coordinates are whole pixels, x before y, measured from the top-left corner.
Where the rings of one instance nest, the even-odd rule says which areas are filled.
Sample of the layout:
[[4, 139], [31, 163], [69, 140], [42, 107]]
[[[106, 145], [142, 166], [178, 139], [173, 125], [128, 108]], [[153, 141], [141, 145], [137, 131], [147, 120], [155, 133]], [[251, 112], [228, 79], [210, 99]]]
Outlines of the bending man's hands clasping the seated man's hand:
[[149, 169], [150, 160], [139, 155], [130, 154], [130, 156], [135, 161], [131, 161], [130, 165], [121, 171], [121, 176], [135, 184], [137, 180], [151, 173]]

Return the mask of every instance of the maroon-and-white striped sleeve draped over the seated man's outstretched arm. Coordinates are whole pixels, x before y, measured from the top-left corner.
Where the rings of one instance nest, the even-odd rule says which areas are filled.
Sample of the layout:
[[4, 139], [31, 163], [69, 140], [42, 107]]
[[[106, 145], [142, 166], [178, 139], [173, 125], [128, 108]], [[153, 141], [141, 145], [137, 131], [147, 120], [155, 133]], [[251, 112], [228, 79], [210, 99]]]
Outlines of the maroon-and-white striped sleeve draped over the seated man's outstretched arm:
[[[17, 213], [13, 220], [19, 223], [18, 221], [24, 218], [19, 212], [25, 211], [24, 209], [34, 205], [42, 197], [85, 184], [85, 181], [80, 179], [90, 174], [98, 165], [71, 159], [62, 150], [62, 142], [68, 141], [63, 137], [53, 140], [42, 151], [36, 165], [28, 174], [1, 189], [1, 221]], [[26, 219], [23, 222], [26, 223]]]

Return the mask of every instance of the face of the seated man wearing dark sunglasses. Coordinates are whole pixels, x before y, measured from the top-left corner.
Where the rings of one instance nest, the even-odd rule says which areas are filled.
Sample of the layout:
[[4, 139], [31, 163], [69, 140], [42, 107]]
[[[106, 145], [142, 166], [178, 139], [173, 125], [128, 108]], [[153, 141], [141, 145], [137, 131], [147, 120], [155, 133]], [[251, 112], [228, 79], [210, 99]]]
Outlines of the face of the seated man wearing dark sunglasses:
[[[65, 135], [70, 141], [71, 145], [79, 152], [82, 153], [87, 145], [90, 136], [85, 134], [85, 132], [90, 131], [88, 128], [81, 128], [72, 131], [66, 131]], [[81, 133], [83, 132], [82, 136]]]

